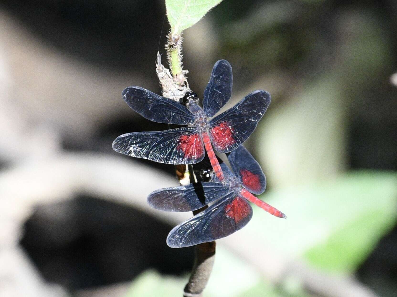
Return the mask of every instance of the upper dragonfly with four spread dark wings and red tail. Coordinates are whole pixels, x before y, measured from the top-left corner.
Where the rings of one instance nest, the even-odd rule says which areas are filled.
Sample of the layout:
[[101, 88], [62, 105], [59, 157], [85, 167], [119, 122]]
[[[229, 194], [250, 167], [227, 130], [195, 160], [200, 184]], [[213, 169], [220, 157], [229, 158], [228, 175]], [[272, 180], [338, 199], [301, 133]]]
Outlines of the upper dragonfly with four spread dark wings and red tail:
[[256, 90], [215, 116], [229, 101], [232, 84], [229, 62], [219, 60], [204, 90], [203, 108], [198, 105], [197, 94], [191, 91], [185, 94], [181, 104], [138, 86], [125, 88], [122, 92], [125, 102], [143, 117], [187, 127], [126, 133], [114, 140], [113, 149], [129, 156], [175, 165], [200, 162], [205, 149], [216, 176], [223, 181], [212, 145], [221, 153], [235, 150], [252, 134], [271, 101], [267, 91]]

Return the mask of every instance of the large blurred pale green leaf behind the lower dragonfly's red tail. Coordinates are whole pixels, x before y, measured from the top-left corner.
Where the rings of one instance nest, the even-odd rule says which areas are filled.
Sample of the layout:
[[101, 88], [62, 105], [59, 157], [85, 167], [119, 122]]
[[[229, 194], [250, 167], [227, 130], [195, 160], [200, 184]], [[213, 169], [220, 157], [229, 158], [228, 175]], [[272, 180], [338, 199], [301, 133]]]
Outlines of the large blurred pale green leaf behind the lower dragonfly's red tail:
[[242, 232], [289, 259], [349, 274], [393, 228], [397, 174], [355, 171], [316, 185], [265, 192], [261, 198], [288, 219], [274, 219], [255, 207]]

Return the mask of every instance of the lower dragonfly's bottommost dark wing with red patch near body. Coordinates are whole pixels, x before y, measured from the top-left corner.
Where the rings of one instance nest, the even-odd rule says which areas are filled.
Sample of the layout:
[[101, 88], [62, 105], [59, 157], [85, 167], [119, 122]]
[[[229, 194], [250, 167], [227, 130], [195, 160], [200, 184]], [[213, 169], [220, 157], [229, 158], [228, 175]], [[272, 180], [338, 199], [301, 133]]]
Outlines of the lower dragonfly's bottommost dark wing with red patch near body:
[[226, 237], [251, 220], [252, 208], [235, 192], [225, 196], [205, 211], [179, 224], [167, 237], [170, 247], [186, 247]]

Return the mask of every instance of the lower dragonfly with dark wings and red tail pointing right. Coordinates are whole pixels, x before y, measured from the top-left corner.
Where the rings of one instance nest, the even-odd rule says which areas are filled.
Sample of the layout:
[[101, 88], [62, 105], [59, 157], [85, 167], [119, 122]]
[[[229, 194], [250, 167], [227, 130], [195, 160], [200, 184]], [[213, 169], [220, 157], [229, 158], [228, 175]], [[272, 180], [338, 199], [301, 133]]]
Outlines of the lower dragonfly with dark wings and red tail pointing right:
[[252, 217], [252, 208], [247, 200], [276, 217], [286, 218], [284, 213], [253, 195], [264, 192], [266, 177], [252, 155], [240, 146], [227, 158], [233, 172], [225, 163], [221, 164], [224, 183], [215, 178], [212, 182], [162, 188], [148, 196], [150, 206], [164, 211], [193, 211], [215, 201], [204, 211], [173, 228], [167, 237], [168, 246], [194, 246], [240, 230]]

